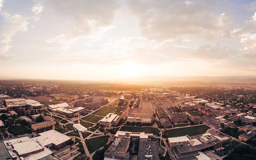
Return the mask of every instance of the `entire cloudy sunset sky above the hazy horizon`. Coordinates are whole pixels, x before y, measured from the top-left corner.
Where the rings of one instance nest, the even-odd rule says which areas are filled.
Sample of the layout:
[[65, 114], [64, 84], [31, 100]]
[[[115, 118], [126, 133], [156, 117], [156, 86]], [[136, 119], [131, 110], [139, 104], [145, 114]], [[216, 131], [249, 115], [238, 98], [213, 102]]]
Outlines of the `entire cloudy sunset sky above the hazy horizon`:
[[253, 0], [0, 0], [1, 75], [256, 76]]

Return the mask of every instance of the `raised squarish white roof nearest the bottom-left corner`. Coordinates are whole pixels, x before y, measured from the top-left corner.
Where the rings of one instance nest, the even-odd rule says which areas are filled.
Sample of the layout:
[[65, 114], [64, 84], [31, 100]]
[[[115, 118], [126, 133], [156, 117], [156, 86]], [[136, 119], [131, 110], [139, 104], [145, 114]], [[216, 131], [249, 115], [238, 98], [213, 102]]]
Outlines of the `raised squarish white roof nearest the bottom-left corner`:
[[38, 143], [36, 143], [35, 140], [28, 140], [20, 143], [14, 143], [12, 144], [12, 146], [13, 146], [13, 149], [16, 150], [19, 155], [34, 152], [39, 149], [43, 149], [43, 147]]

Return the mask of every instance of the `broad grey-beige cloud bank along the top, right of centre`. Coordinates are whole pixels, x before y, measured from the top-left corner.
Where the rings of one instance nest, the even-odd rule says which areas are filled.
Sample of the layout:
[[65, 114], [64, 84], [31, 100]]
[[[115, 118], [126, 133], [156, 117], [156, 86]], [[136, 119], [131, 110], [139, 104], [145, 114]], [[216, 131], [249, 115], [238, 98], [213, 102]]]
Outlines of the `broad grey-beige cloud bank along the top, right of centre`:
[[142, 35], [150, 40], [163, 41], [184, 35], [207, 39], [230, 37], [232, 18], [215, 14], [218, 3], [211, 1], [184, 6], [181, 1], [135, 0], [128, 1], [128, 8], [139, 19]]

